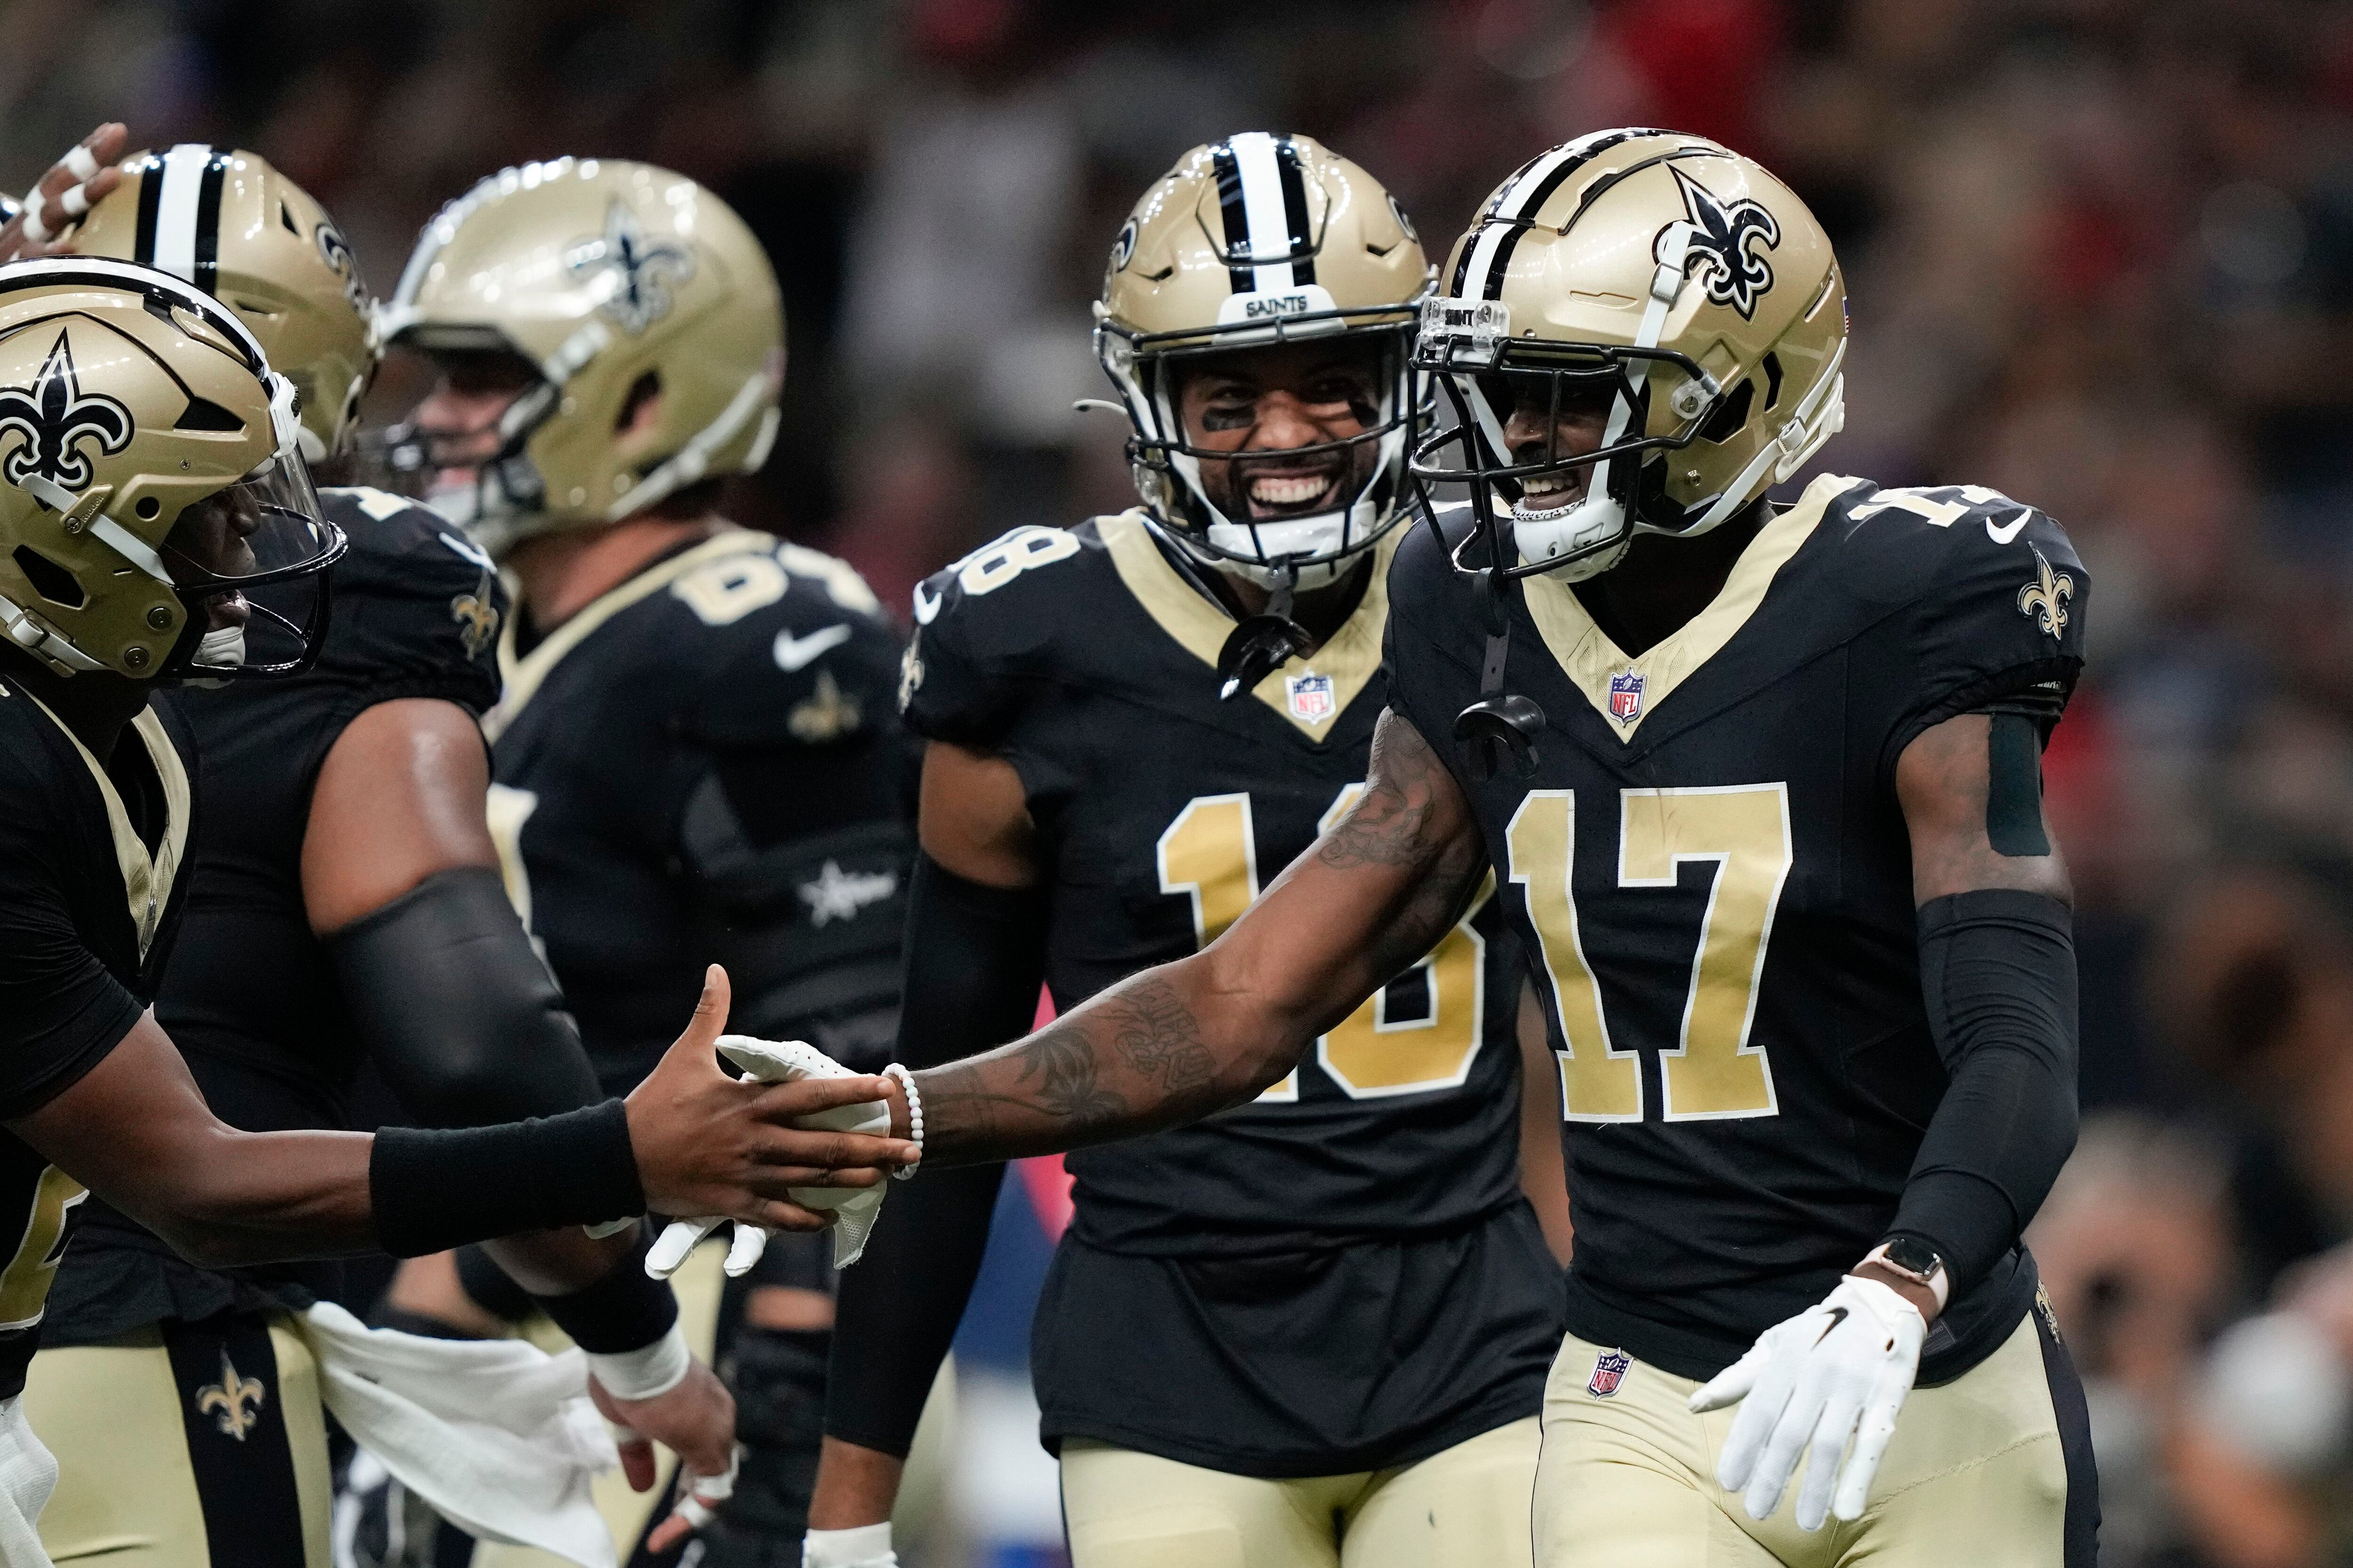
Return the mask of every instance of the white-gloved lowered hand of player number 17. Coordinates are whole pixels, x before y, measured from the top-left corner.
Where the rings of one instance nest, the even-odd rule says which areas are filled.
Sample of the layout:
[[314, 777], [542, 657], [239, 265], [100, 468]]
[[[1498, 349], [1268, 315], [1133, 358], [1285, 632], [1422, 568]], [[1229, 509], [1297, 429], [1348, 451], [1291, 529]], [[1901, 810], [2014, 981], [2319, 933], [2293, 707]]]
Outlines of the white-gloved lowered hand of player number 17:
[[[1920, 1373], [1927, 1319], [1889, 1286], [1847, 1274], [1793, 1319], [1774, 1324], [1746, 1356], [1692, 1394], [1692, 1413], [1739, 1403], [1715, 1481], [1741, 1493], [1751, 1519], [1769, 1519], [1807, 1450], [1798, 1528], [1828, 1514], [1859, 1519], [1897, 1413]], [[1854, 1439], [1854, 1453], [1847, 1453]], [[1840, 1465], [1845, 1455], [1845, 1465]], [[1835, 1486], [1835, 1497], [1833, 1497]]]

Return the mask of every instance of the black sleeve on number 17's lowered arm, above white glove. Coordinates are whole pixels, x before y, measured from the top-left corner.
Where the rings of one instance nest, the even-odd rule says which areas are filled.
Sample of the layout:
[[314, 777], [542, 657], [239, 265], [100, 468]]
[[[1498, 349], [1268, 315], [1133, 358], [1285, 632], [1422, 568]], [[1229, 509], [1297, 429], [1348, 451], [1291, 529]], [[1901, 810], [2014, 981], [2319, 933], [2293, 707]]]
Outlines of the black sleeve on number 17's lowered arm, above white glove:
[[1920, 990], [1951, 1081], [1889, 1237], [1920, 1237], [1960, 1295], [2019, 1244], [2075, 1147], [2075, 938], [2042, 893], [1920, 905]]

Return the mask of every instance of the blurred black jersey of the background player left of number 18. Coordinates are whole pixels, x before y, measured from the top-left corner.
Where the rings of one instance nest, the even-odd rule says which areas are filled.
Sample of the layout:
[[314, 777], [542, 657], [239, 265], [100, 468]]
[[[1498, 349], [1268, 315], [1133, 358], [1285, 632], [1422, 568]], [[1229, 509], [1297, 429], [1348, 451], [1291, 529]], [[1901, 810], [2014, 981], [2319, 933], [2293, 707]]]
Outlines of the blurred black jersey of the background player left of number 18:
[[856, 571], [725, 529], [539, 642], [511, 623], [499, 658], [492, 832], [609, 1093], [713, 961], [729, 1030], [833, 1048], [828, 1025], [887, 1020], [911, 773], [899, 639]]

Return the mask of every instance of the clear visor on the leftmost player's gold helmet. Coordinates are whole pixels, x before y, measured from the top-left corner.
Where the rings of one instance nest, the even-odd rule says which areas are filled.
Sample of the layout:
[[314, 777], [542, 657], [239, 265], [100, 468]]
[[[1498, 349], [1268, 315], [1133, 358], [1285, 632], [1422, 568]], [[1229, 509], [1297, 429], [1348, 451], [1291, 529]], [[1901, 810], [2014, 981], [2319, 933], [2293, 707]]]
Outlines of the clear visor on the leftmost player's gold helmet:
[[327, 567], [344, 545], [299, 451], [184, 508], [160, 557], [188, 625], [160, 672], [249, 679], [311, 668], [327, 635]]

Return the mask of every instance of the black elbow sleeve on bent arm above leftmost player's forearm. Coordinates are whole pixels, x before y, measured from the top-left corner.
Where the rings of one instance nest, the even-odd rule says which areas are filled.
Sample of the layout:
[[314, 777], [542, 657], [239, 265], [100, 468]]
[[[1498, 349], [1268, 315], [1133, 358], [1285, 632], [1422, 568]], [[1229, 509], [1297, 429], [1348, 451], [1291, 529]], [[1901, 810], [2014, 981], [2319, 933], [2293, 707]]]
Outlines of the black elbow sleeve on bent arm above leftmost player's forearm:
[[327, 954], [360, 1039], [419, 1121], [485, 1126], [605, 1098], [487, 865], [426, 877], [329, 936]]

